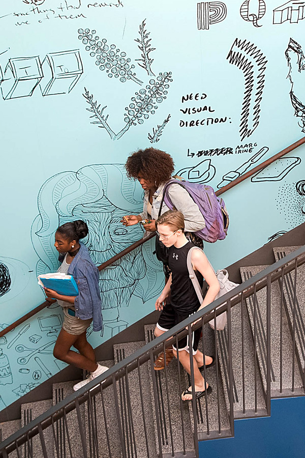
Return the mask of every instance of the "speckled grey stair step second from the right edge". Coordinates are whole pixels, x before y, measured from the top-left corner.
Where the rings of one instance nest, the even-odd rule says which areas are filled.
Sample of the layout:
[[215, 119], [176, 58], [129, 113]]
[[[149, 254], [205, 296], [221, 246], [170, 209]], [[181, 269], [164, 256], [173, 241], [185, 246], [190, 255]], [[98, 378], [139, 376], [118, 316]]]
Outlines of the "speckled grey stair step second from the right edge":
[[[267, 266], [242, 267], [240, 269], [242, 280], [245, 281], [258, 274]], [[260, 373], [266, 390], [266, 288], [246, 300], [248, 315], [250, 318], [252, 335], [254, 336], [254, 310], [256, 309], [256, 347]], [[282, 340], [281, 340], [281, 291], [278, 282], [271, 283], [271, 391], [278, 391], [281, 388], [281, 365], [280, 349], [282, 345], [282, 388], [292, 387], [292, 339], [289, 332], [287, 318], [284, 308], [282, 310]], [[295, 388], [302, 386], [302, 380], [295, 360]]]

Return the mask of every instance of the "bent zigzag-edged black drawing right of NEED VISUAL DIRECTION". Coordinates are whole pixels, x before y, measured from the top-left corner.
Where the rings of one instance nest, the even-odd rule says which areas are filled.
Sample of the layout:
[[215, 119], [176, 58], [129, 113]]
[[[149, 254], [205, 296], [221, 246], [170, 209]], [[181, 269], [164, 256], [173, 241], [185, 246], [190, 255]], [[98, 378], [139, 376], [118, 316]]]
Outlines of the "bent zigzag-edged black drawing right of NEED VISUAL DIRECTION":
[[250, 137], [259, 125], [267, 59], [253, 43], [238, 38], [235, 39], [227, 59], [245, 76], [245, 95], [239, 124], [239, 134], [243, 140]]

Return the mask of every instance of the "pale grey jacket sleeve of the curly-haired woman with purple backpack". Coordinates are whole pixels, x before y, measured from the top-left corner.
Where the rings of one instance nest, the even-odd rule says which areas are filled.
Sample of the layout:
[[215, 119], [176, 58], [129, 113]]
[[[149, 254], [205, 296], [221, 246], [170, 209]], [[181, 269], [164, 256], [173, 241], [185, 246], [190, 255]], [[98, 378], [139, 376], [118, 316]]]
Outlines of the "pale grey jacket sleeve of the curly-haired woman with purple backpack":
[[205, 226], [205, 221], [199, 207], [193, 201], [188, 191], [180, 185], [173, 183], [168, 188], [169, 198], [174, 207], [185, 217], [185, 231], [200, 231]]

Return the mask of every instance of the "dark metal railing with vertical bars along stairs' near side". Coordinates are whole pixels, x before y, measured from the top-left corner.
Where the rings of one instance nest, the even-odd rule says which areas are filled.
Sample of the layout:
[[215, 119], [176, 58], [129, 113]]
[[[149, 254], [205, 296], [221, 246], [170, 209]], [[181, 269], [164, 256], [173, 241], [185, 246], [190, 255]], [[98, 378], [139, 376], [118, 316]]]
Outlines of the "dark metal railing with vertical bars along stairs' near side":
[[[288, 254], [285, 256], [283, 259], [277, 261], [275, 264], [272, 264], [268, 266], [266, 269], [258, 273], [257, 275], [249, 278], [246, 280], [244, 283], [238, 285], [234, 290], [230, 291], [229, 293], [225, 294], [224, 296], [220, 297], [216, 301], [212, 302], [211, 304], [207, 305], [204, 309], [196, 312], [194, 315], [189, 317], [188, 319], [184, 320], [182, 323], [179, 323], [176, 325], [174, 328], [171, 330], [167, 331], [164, 333], [162, 336], [157, 337], [156, 339], [152, 340], [149, 344], [145, 345], [143, 348], [139, 349], [136, 351], [134, 354], [130, 355], [129, 357], [121, 360], [119, 363], [115, 364], [113, 367], [108, 369], [104, 374], [96, 378], [95, 380], [89, 382], [87, 385], [79, 389], [77, 392], [69, 395], [67, 398], [62, 400], [62, 402], [58, 403], [57, 405], [53, 406], [51, 409], [49, 409], [47, 412], [44, 414], [40, 415], [38, 418], [35, 420], [31, 421], [31, 423], [28, 423], [26, 426], [24, 426], [21, 430], [13, 434], [11, 437], [8, 439], [4, 440], [1, 445], [0, 445], [0, 458], [9, 458], [11, 456], [11, 453], [13, 453], [15, 450], [17, 450], [18, 456], [21, 456], [22, 452], [22, 447], [25, 445], [30, 448], [32, 441], [31, 439], [34, 438], [35, 436], [39, 437], [39, 441], [41, 444], [41, 453], [44, 458], [48, 458], [48, 456], [52, 456], [49, 450], [46, 447], [46, 441], [44, 437], [44, 432], [46, 431], [46, 428], [49, 426], [52, 426], [52, 434], [53, 434], [53, 442], [56, 443], [56, 428], [54, 425], [57, 424], [57, 422], [60, 420], [60, 418], [65, 419], [65, 424], [66, 424], [66, 438], [69, 441], [70, 444], [70, 439], [71, 439], [71, 432], [73, 432], [73, 437], [75, 437], [75, 430], [77, 430], [77, 433], [79, 434], [80, 441], [81, 441], [81, 447], [82, 447], [82, 452], [84, 458], [88, 456], [88, 450], [87, 450], [87, 444], [86, 444], [86, 432], [84, 429], [84, 424], [83, 420], [81, 417], [81, 410], [80, 406], [82, 405], [87, 405], [88, 406], [88, 416], [90, 416], [90, 420], [92, 423], [95, 425], [93, 428], [93, 435], [94, 435], [94, 441], [96, 444], [98, 444], [99, 437], [97, 433], [97, 419], [94, 417], [92, 408], [93, 400], [97, 400], [101, 396], [102, 404], [104, 406], [103, 398], [104, 398], [104, 393], [105, 390], [109, 387], [109, 389], [112, 389], [113, 391], [113, 402], [114, 402], [114, 411], [116, 414], [116, 421], [118, 425], [118, 437], [117, 440], [120, 443], [120, 448], [121, 448], [121, 455], [123, 458], [128, 457], [127, 453], [127, 447], [128, 447], [128, 441], [129, 440], [134, 440], [135, 444], [135, 453], [136, 447], [138, 440], [137, 438], [133, 437], [131, 438], [131, 434], [128, 434], [128, 432], [131, 431], [131, 426], [133, 425], [133, 411], [132, 411], [132, 403], [130, 402], [130, 399], [128, 400], [127, 403], [127, 420], [129, 422], [129, 427], [130, 429], [125, 431], [123, 428], [125, 427], [125, 423], [122, 420], [122, 415], [123, 412], [120, 410], [120, 403], [119, 403], [119, 390], [118, 390], [118, 381], [121, 380], [125, 384], [126, 388], [128, 389], [127, 392], [129, 393], [129, 377], [131, 373], [138, 374], [139, 378], [139, 386], [138, 386], [138, 392], [139, 392], [139, 398], [137, 399], [137, 402], [141, 401], [143, 405], [143, 387], [141, 384], [141, 371], [140, 367], [143, 364], [146, 364], [146, 367], [148, 370], [151, 371], [151, 377], [153, 380], [153, 399], [152, 403], [153, 406], [155, 406], [155, 415], [156, 415], [156, 422], [157, 422], [157, 448], [159, 452], [160, 458], [163, 456], [165, 457], [163, 451], [162, 451], [162, 438], [161, 438], [161, 426], [160, 426], [160, 418], [159, 418], [159, 413], [158, 413], [158, 406], [157, 406], [157, 386], [156, 386], [156, 378], [155, 378], [155, 371], [154, 371], [154, 356], [159, 353], [160, 351], [163, 351], [165, 353], [165, 348], [169, 347], [170, 345], [174, 344], [175, 347], [178, 344], [178, 339], [181, 337], [188, 335], [189, 339], [191, 339], [191, 332], [192, 329], [197, 329], [201, 327], [202, 330], [202, 345], [203, 345], [203, 352], [204, 352], [204, 336], [205, 336], [205, 327], [204, 325], [208, 323], [211, 319], [216, 319], [216, 317], [222, 313], [223, 311], [227, 312], [227, 328], [222, 331], [226, 333], [226, 338], [228, 342], [228, 377], [229, 377], [229, 383], [228, 383], [228, 392], [226, 394], [226, 397], [228, 399], [228, 419], [229, 419], [229, 425], [230, 425], [230, 431], [224, 431], [223, 428], [221, 427], [221, 419], [219, 418], [219, 427], [218, 431], [209, 431], [208, 428], [208, 422], [209, 422], [209, 406], [208, 406], [208, 396], [205, 394], [205, 410], [206, 410], [206, 419], [207, 419], [207, 432], [205, 435], [202, 436], [202, 433], [197, 433], [197, 405], [196, 405], [196, 400], [195, 398], [192, 400], [190, 403], [191, 409], [190, 409], [190, 415], [193, 416], [194, 420], [194, 434], [193, 434], [193, 439], [194, 439], [194, 450], [193, 454], [186, 450], [185, 444], [184, 444], [184, 449], [181, 451], [175, 449], [175, 444], [173, 440], [171, 440], [171, 456], [192, 456], [194, 458], [197, 458], [199, 456], [199, 451], [198, 451], [198, 439], [212, 439], [212, 438], [217, 438], [217, 437], [228, 437], [228, 436], [233, 436], [234, 435], [234, 399], [233, 399], [233, 365], [232, 365], [232, 311], [234, 312], [234, 307], [239, 306], [243, 307], [243, 303], [245, 300], [251, 296], [254, 297], [254, 300], [256, 300], [256, 295], [259, 291], [265, 291], [266, 292], [266, 316], [265, 316], [265, 324], [266, 324], [266, 377], [265, 381], [262, 384], [264, 387], [264, 413], [263, 415], [270, 415], [270, 398], [271, 398], [271, 393], [270, 393], [270, 341], [271, 341], [271, 330], [270, 330], [270, 310], [271, 310], [271, 284], [275, 281], [280, 281], [280, 283], [283, 285], [283, 280], [285, 276], [294, 271], [294, 303], [296, 301], [296, 280], [297, 280], [297, 268], [301, 265], [305, 264], [305, 246], [302, 246], [298, 248], [297, 250], [293, 251], [292, 253]], [[283, 301], [283, 295], [281, 296], [281, 301]], [[237, 310], [237, 309], [236, 309]], [[282, 310], [282, 306], [281, 306]], [[282, 313], [282, 311], [281, 311]], [[295, 307], [294, 307], [294, 313], [295, 313]], [[242, 311], [241, 311], [241, 317], [242, 317]], [[196, 325], [193, 326], [192, 328], [192, 323], [196, 320], [200, 320]], [[236, 319], [236, 317], [235, 317]], [[234, 320], [235, 320], [234, 319]], [[257, 317], [254, 316], [254, 321], [257, 320]], [[295, 317], [293, 318], [295, 321]], [[282, 320], [281, 320], [282, 322]], [[233, 322], [234, 324], [234, 322]], [[255, 327], [254, 327], [255, 328]], [[217, 344], [218, 342], [218, 335], [217, 335], [217, 330], [214, 330], [215, 333], [215, 342]], [[281, 327], [281, 333], [282, 333], [282, 327]], [[254, 331], [254, 342], [256, 339], [255, 336], [255, 331]], [[295, 341], [295, 336], [292, 336], [293, 342]], [[241, 361], [235, 362], [238, 365], [242, 366], [245, 368], [245, 366], [250, 364], [249, 358], [247, 359], [245, 352], [243, 351], [243, 345], [244, 345], [244, 338], [243, 335], [241, 335]], [[177, 347], [176, 347], [177, 348]], [[293, 346], [293, 355], [292, 358], [294, 360], [295, 357], [295, 345]], [[257, 366], [257, 348], [254, 346], [254, 365], [255, 368]], [[182, 387], [182, 377], [180, 376], [180, 371], [181, 371], [181, 366], [179, 364], [179, 356], [177, 356], [177, 361], [176, 361], [178, 370], [179, 370], [179, 377], [178, 381], [171, 381], [168, 380], [167, 377], [167, 372], [165, 371], [165, 377], [166, 377], [166, 387], [163, 387], [163, 389], [170, 389], [170, 384], [171, 383], [178, 383], [179, 384], [179, 393], [182, 392], [183, 387]], [[194, 364], [193, 364], [193, 358], [190, 357], [190, 365], [191, 365], [191, 386], [192, 386], [192, 391], [194, 392]], [[303, 368], [300, 368], [301, 370]], [[257, 368], [256, 368], [257, 370]], [[219, 358], [218, 358], [218, 344], [216, 347], [216, 371], [217, 374], [219, 373]], [[296, 390], [294, 388], [294, 365], [292, 366], [292, 384], [291, 384], [291, 390], [289, 395], [304, 395], [304, 378], [305, 378], [305, 371], [302, 370], [302, 388], [301, 390]], [[183, 372], [182, 372], [183, 373]], [[204, 364], [203, 368], [203, 376], [204, 379], [206, 379], [206, 367]], [[257, 387], [256, 385], [259, 383], [259, 377], [255, 377], [255, 388]], [[249, 381], [247, 382], [249, 384]], [[247, 390], [247, 384], [245, 383], [245, 371], [242, 371], [242, 390], [245, 392]], [[216, 391], [217, 391], [217, 397], [218, 397], [218, 403], [221, 395], [221, 383], [217, 378], [217, 386], [216, 386]], [[287, 391], [287, 390], [286, 390]], [[287, 392], [285, 393], [287, 395]], [[247, 414], [247, 409], [245, 407], [245, 396], [243, 396], [243, 412]], [[179, 400], [180, 399], [180, 400]], [[181, 398], [179, 396], [179, 399], [177, 399], [177, 403], [180, 403], [180, 418], [175, 419], [179, 425], [181, 424], [181, 428], [183, 427], [183, 414], [182, 414], [182, 402]], [[75, 411], [77, 414], [77, 419], [78, 423], [75, 424], [73, 423], [72, 426], [70, 426], [70, 432], [69, 432], [69, 425], [67, 423], [67, 415]], [[105, 413], [105, 412], [104, 412]], [[142, 409], [142, 421], [143, 425], [145, 425], [145, 410]], [[262, 410], [260, 410], [257, 407], [257, 392], [255, 392], [255, 408], [254, 411], [251, 411], [250, 413], [248, 412], [249, 416], [261, 416], [262, 415]], [[218, 415], [219, 411], [218, 411]], [[110, 437], [109, 431], [111, 428], [111, 425], [107, 424], [107, 418], [106, 415], [104, 415], [104, 421], [105, 421], [105, 430], [106, 430], [106, 436], [107, 436], [107, 445], [108, 445], [108, 450], [109, 450], [109, 458], [114, 458], [114, 455], [112, 453], [112, 448], [111, 448], [111, 440], [113, 440], [113, 437]], [[112, 420], [113, 421], [113, 417]], [[137, 418], [137, 421], [139, 421], [139, 418]], [[148, 441], [147, 441], [147, 431], [145, 426], [143, 426], [142, 431], [144, 431], [144, 436], [146, 440], [146, 452], [147, 452], [147, 457], [149, 458], [155, 458], [151, 456], [150, 451], [148, 449]], [[201, 434], [201, 436], [200, 436]], [[172, 430], [170, 428], [169, 435], [172, 437]], [[142, 434], [143, 436], [143, 434]], [[70, 438], [70, 439], [69, 439]], [[143, 438], [142, 438], [143, 439]], [[25, 444], [25, 445], [24, 445]], [[72, 458], [73, 452], [71, 452], [71, 447], [69, 447], [70, 450], [70, 456]], [[33, 450], [32, 450], [33, 451]], [[189, 453], [187, 455], [187, 452]], [[32, 453], [32, 452], [31, 452]], [[176, 454], [175, 454], [176, 453]], [[136, 455], [135, 455], [136, 456]], [[166, 455], [166, 457], [169, 455]]]

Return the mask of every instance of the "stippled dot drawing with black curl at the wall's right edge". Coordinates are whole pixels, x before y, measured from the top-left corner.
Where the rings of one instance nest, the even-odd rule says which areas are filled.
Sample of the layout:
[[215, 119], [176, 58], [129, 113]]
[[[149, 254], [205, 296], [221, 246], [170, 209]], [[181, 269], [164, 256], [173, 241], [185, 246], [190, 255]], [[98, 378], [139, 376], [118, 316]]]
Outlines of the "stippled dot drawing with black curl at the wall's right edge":
[[276, 202], [288, 230], [305, 222], [305, 180], [280, 186]]

